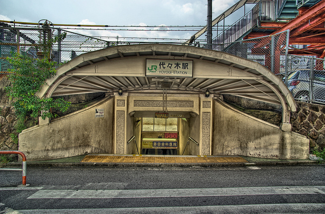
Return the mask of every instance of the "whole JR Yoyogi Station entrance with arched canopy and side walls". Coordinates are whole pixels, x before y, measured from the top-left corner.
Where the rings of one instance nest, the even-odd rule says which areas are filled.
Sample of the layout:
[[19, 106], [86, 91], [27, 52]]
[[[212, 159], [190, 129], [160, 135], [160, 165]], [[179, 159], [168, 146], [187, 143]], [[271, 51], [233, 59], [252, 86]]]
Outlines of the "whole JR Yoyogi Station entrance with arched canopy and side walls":
[[[106, 93], [77, 112], [19, 135], [29, 160], [93, 154], [243, 155], [304, 159], [309, 140], [291, 132], [296, 103], [260, 64], [185, 45], [114, 46], [57, 69], [40, 97]], [[233, 109], [222, 95], [281, 106], [275, 126]]]

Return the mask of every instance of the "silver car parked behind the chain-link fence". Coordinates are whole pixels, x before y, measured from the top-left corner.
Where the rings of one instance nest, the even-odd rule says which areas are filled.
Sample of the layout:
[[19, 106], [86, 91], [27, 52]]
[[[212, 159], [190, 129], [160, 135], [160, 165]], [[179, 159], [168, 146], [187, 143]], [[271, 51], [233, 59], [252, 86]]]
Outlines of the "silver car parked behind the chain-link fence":
[[[309, 70], [291, 72], [288, 75], [288, 88], [296, 100], [309, 101], [311, 79]], [[325, 103], [325, 71], [313, 71], [311, 99]], [[284, 81], [284, 78], [283, 78]]]

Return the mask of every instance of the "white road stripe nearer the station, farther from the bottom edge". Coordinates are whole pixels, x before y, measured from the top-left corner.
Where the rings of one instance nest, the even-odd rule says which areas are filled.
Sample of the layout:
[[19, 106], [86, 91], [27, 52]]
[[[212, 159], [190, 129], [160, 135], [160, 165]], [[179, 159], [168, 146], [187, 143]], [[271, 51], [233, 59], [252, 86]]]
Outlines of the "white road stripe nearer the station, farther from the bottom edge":
[[325, 186], [243, 187], [147, 190], [39, 190], [28, 199], [42, 198], [165, 198], [239, 195], [325, 194]]

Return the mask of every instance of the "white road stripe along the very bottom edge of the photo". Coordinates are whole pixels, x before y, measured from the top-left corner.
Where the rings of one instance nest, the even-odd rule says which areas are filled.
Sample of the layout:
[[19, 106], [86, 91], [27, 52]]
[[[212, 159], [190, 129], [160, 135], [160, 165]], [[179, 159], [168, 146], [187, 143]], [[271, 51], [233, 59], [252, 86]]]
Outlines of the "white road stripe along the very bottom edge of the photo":
[[325, 204], [248, 204], [223, 206], [176, 206], [176, 207], [136, 207], [101, 209], [23, 209], [16, 213], [25, 214], [101, 214], [101, 213], [324, 213]]

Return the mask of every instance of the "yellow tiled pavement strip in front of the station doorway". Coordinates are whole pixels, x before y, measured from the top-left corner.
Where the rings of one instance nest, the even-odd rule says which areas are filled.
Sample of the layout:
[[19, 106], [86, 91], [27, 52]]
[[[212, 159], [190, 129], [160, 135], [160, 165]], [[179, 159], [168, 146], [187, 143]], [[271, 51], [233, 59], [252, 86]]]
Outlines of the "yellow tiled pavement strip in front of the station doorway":
[[241, 157], [87, 155], [83, 163], [248, 163]]

